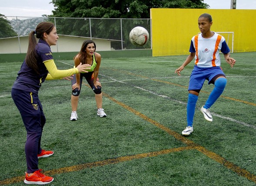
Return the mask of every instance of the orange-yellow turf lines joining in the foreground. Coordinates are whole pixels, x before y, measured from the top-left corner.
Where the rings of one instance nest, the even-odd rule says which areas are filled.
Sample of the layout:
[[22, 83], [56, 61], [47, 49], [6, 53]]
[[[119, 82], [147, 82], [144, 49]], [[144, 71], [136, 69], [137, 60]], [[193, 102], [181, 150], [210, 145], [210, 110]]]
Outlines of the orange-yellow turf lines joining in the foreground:
[[[131, 155], [131, 156], [117, 157], [114, 159], [107, 159], [107, 160], [97, 161], [97, 162], [92, 162], [92, 163], [87, 163], [87, 164], [79, 164], [79, 165], [74, 165], [74, 166], [70, 166], [70, 167], [62, 167], [59, 169], [45, 171], [44, 172], [45, 174], [55, 175], [55, 174], [61, 174], [61, 173], [69, 173], [69, 172], [73, 172], [73, 171], [83, 170], [86, 168], [93, 168], [93, 167], [104, 166], [104, 165], [108, 165], [108, 164], [117, 164], [120, 162], [130, 161], [133, 159], [141, 159], [141, 158], [145, 158], [145, 157], [156, 157], [156, 156], [162, 155], [162, 154], [169, 154], [169, 153], [177, 152], [177, 151], [196, 149], [197, 151], [205, 154], [207, 157], [215, 160], [219, 164], [222, 164], [223, 166], [232, 170], [233, 172], [237, 173], [238, 175], [246, 177], [248, 180], [256, 183], [256, 176], [254, 174], [250, 173], [249, 171], [238, 167], [237, 165], [229, 162], [225, 158], [219, 156], [218, 154], [216, 154], [212, 151], [208, 151], [206, 148], [194, 143], [193, 141], [189, 140], [188, 138], [183, 137], [182, 135], [178, 134], [177, 132], [171, 130], [170, 128], [167, 128], [167, 127], [161, 125], [160, 123], [154, 121], [153, 119], [150, 119], [146, 115], [143, 115], [142, 113], [136, 111], [135, 109], [131, 108], [130, 106], [127, 106], [124, 103], [114, 99], [113, 97], [109, 96], [108, 94], [103, 93], [103, 95], [106, 96], [108, 99], [112, 100], [113, 102], [117, 103], [118, 105], [122, 106], [123, 108], [127, 109], [128, 111], [134, 113], [135, 115], [138, 115], [140, 118], [144, 119], [145, 121], [152, 123], [153, 125], [155, 125], [158, 128], [161, 128], [163, 131], [166, 131], [168, 134], [172, 135], [177, 140], [182, 141], [187, 146], [166, 149], [166, 150], [162, 150], [162, 151], [143, 153], [143, 154], [136, 154], [136, 155]], [[23, 180], [24, 180], [24, 176], [12, 177], [12, 178], [9, 178], [6, 180], [0, 180], [0, 185], [8, 185], [8, 184], [12, 184], [12, 183], [18, 183]]]

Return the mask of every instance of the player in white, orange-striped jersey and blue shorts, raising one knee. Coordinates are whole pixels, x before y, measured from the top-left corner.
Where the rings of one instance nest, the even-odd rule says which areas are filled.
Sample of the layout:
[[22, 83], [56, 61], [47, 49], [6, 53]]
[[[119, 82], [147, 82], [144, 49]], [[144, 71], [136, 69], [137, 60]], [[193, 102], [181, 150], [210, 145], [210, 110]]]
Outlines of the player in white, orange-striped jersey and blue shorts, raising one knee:
[[195, 66], [190, 76], [188, 88], [187, 127], [182, 131], [182, 135], [190, 135], [193, 132], [196, 102], [205, 80], [208, 80], [208, 84], [213, 83], [215, 87], [200, 111], [207, 121], [213, 121], [209, 108], [223, 93], [227, 82], [226, 76], [220, 67], [219, 51], [223, 53], [226, 62], [231, 67], [236, 63], [236, 60], [230, 57], [230, 49], [225, 38], [210, 30], [212, 24], [212, 16], [208, 13], [199, 16], [198, 27], [201, 33], [193, 36], [190, 44], [190, 55], [175, 71], [180, 76], [184, 67], [195, 58]]

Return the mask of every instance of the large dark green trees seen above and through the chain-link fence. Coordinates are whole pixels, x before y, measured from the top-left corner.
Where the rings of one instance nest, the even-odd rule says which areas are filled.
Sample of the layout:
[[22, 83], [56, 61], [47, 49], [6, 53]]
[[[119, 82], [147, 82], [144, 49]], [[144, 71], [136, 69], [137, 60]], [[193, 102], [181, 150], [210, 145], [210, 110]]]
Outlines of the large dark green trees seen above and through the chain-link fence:
[[[48, 19], [53, 22], [51, 17], [61, 18], [55, 19], [58, 34], [122, 39], [122, 42], [111, 43], [114, 49], [136, 48], [129, 42], [130, 30], [135, 26], [150, 30], [151, 8], [209, 7], [203, 0], [52, 0], [52, 3], [55, 9]], [[150, 42], [140, 48], [149, 47]]]

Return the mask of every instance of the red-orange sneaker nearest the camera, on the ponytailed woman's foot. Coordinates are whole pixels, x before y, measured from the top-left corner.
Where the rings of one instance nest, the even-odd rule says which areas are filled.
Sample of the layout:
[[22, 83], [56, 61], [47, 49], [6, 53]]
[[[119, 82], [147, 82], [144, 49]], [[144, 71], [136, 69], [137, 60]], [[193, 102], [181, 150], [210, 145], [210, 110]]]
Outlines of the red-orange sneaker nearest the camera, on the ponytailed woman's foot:
[[26, 173], [24, 183], [38, 185], [51, 183], [53, 181], [53, 177], [45, 176], [41, 171], [42, 169], [37, 170], [31, 176], [28, 176]]

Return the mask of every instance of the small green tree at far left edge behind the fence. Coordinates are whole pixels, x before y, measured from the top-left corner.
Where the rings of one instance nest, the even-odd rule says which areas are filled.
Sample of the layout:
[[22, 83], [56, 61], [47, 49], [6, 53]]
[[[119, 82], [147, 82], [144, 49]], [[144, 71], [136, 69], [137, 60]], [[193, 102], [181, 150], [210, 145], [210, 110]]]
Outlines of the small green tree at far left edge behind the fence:
[[9, 38], [9, 37], [18, 36], [17, 33], [10, 26], [10, 21], [8, 21], [3, 14], [0, 14], [0, 25], [1, 25], [0, 38]]

